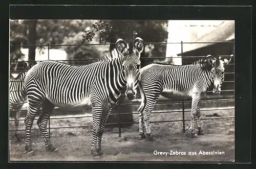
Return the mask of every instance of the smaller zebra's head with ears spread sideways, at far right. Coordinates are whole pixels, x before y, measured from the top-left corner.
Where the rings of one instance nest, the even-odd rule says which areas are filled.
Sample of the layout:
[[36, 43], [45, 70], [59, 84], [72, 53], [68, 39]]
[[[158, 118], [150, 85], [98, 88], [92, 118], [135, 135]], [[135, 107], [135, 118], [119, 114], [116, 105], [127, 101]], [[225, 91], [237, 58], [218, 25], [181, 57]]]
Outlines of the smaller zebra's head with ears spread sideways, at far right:
[[215, 94], [221, 92], [221, 85], [224, 82], [225, 65], [231, 61], [232, 57], [233, 55], [230, 55], [228, 58], [207, 56], [208, 63], [212, 65], [211, 73], [212, 80], [214, 81], [214, 89], [212, 92]]

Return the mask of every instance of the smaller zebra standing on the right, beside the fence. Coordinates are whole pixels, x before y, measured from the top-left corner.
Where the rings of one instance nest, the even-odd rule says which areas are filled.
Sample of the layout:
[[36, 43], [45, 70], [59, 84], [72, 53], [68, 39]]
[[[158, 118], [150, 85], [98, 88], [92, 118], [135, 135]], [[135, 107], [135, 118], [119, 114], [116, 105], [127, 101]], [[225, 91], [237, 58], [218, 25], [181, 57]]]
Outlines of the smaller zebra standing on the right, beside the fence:
[[[190, 130], [192, 137], [203, 134], [200, 126], [200, 102], [209, 86], [214, 83], [213, 93], [221, 92], [224, 81], [225, 65], [233, 55], [228, 58], [206, 57], [187, 65], [163, 65], [152, 63], [141, 68], [139, 89], [141, 93], [141, 105], [137, 110], [139, 114], [139, 139], [153, 140], [151, 133], [150, 114], [158, 98], [162, 95], [170, 99], [173, 95], [190, 96], [192, 98]], [[194, 121], [197, 116], [198, 135], [194, 129]], [[146, 135], [143, 130], [145, 124]]]

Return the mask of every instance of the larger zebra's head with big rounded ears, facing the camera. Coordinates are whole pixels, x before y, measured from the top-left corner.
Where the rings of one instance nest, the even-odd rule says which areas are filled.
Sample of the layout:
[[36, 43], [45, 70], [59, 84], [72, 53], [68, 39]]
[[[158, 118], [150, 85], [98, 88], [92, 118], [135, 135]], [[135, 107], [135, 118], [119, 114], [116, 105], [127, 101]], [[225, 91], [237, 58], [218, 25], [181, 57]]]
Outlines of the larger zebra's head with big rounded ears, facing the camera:
[[137, 37], [133, 42], [133, 47], [122, 39], [116, 41], [116, 50], [123, 57], [122, 70], [126, 81], [125, 95], [129, 100], [133, 100], [137, 94], [137, 86], [140, 80], [140, 54], [144, 50], [144, 41]]

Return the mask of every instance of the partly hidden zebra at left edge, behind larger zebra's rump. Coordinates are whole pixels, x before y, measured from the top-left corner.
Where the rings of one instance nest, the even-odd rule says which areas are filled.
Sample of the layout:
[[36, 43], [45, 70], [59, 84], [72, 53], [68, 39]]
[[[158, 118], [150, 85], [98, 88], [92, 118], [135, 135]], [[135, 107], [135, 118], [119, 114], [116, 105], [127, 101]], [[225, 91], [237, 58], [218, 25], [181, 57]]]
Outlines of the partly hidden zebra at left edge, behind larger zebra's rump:
[[[33, 66], [35, 62], [32, 64], [28, 64], [25, 62], [24, 70], [29, 70], [31, 66]], [[27, 71], [24, 71], [23, 73], [20, 73], [16, 78], [14, 78], [10, 74], [9, 78], [9, 110], [15, 112], [15, 118], [14, 118], [14, 124], [16, 131], [14, 132], [14, 135], [16, 137], [17, 141], [20, 141], [20, 138], [17, 134], [18, 126], [19, 126], [19, 117], [20, 117], [20, 109], [24, 105], [24, 103], [27, 100], [27, 95], [24, 90], [24, 80], [25, 76], [27, 74]]]

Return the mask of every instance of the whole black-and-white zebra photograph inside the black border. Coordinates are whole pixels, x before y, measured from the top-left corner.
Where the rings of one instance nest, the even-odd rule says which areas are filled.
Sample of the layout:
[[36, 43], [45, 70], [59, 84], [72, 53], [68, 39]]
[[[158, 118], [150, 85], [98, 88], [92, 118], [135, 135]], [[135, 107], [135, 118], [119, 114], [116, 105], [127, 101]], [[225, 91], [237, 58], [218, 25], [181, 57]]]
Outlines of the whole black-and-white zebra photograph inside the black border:
[[234, 20], [9, 24], [10, 161], [234, 161]]

